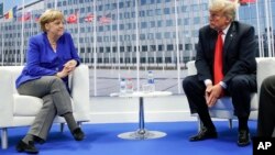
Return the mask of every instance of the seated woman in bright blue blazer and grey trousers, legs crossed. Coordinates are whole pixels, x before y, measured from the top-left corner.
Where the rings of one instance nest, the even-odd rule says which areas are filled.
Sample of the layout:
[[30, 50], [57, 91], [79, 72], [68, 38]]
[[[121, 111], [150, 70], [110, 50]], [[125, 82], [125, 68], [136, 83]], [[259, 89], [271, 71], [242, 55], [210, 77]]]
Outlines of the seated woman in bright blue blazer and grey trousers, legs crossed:
[[68, 75], [79, 65], [79, 56], [69, 33], [65, 32], [64, 15], [47, 10], [40, 18], [42, 33], [29, 41], [26, 65], [16, 79], [20, 95], [42, 98], [43, 107], [28, 134], [18, 143], [18, 152], [38, 153], [34, 143], [46, 141], [56, 115], [64, 117], [76, 141], [85, 137], [72, 110]]

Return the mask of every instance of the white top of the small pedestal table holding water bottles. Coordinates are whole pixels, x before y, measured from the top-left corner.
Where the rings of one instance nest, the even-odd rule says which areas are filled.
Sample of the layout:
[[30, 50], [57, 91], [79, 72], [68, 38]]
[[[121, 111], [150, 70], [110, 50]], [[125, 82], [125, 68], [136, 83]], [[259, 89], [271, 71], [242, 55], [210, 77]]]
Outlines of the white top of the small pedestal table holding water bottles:
[[166, 96], [172, 96], [170, 91], [152, 91], [152, 92], [145, 92], [145, 91], [134, 91], [132, 93], [111, 93], [110, 97], [124, 97], [124, 98], [130, 98], [130, 97], [166, 97]]

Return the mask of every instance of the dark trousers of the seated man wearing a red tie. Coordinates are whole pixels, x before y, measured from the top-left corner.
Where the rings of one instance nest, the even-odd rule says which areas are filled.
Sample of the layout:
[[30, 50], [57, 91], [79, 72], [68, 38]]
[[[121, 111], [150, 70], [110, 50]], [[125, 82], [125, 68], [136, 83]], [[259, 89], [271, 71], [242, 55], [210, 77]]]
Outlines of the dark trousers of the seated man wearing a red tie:
[[[206, 86], [197, 75], [188, 76], [183, 81], [191, 113], [197, 112], [204, 125], [215, 130], [205, 99]], [[251, 92], [256, 91], [255, 75], [238, 75], [231, 79], [226, 89], [226, 95], [232, 97], [234, 114], [248, 123], [250, 115]], [[240, 124], [240, 123], [239, 123]], [[240, 126], [239, 126], [240, 128]]]

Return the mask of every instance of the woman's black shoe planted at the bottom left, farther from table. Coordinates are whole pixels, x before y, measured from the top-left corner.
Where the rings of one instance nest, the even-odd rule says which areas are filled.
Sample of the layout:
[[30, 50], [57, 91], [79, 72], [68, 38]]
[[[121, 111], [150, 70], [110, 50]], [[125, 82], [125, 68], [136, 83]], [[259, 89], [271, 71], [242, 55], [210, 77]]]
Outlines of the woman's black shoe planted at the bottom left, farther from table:
[[26, 144], [22, 140], [19, 141], [19, 143], [16, 145], [16, 151], [20, 153], [25, 152], [29, 154], [37, 154], [38, 153], [38, 150], [34, 146], [33, 141], [29, 141], [29, 144]]

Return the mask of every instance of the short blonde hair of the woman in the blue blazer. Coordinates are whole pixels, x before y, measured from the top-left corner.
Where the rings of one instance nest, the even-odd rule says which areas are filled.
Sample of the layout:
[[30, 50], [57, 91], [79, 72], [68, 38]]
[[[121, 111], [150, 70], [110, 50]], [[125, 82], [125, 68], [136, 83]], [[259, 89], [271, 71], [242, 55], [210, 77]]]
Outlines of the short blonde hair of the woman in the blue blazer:
[[59, 10], [50, 9], [46, 10], [42, 15], [40, 16], [40, 26], [42, 31], [46, 31], [45, 24], [53, 22], [55, 20], [64, 20], [64, 15]]

